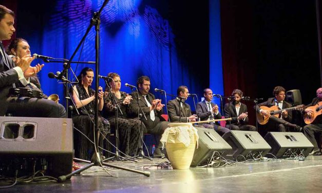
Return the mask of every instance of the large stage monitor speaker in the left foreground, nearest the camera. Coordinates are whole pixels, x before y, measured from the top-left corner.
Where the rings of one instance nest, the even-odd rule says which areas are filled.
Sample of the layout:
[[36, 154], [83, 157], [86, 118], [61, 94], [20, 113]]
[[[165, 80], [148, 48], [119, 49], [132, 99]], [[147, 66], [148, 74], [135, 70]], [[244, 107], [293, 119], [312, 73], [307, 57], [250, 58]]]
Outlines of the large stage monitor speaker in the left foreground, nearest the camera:
[[0, 117], [0, 176], [59, 177], [72, 170], [72, 120]]

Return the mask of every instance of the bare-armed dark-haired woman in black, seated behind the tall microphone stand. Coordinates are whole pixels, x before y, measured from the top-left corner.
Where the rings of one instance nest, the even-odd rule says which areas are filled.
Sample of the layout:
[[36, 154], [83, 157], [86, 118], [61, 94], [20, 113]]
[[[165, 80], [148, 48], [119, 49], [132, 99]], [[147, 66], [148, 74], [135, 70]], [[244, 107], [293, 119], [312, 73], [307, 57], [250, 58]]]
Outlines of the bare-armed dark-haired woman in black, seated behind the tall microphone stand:
[[[74, 149], [75, 157], [89, 160], [90, 153], [93, 153], [94, 144], [90, 143], [86, 136], [90, 140], [93, 140], [93, 123], [95, 115], [95, 90], [90, 88], [91, 83], [94, 78], [94, 72], [91, 68], [85, 67], [82, 69], [80, 75], [78, 76], [79, 83], [74, 85], [72, 88], [72, 100], [78, 109], [73, 112], [73, 124], [74, 127], [80, 130], [85, 136], [78, 131], [74, 132]], [[99, 111], [103, 109], [104, 100], [102, 91], [103, 88], [99, 87]], [[99, 146], [103, 146], [104, 137], [110, 132], [109, 122], [102, 118], [99, 114], [99, 125], [98, 129], [103, 137], [99, 137]], [[98, 139], [96, 139], [98, 140]], [[99, 149], [98, 149], [99, 151]]]

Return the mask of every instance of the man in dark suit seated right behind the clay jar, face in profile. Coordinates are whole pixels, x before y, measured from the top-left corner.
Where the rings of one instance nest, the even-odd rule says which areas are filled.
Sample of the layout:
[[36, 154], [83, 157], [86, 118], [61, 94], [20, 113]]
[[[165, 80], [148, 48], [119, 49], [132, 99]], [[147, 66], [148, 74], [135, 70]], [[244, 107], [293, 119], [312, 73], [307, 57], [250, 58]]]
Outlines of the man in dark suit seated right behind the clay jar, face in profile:
[[186, 86], [179, 86], [177, 89], [178, 97], [168, 101], [166, 106], [168, 108], [168, 117], [171, 122], [187, 123], [195, 122], [197, 120], [197, 115], [191, 113], [190, 105], [184, 102], [188, 98], [188, 94], [189, 91]]

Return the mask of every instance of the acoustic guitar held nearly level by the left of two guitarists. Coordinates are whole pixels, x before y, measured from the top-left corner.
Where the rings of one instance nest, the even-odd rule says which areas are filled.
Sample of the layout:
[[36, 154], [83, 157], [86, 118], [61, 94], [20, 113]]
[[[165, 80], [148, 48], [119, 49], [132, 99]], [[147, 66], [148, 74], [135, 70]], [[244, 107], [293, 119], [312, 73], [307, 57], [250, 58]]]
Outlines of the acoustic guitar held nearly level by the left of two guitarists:
[[256, 113], [256, 117], [257, 117], [257, 122], [260, 125], [265, 125], [267, 124], [267, 122], [269, 121], [271, 115], [275, 116], [275, 117], [280, 117], [280, 114], [282, 113], [283, 110], [286, 111], [292, 111], [292, 110], [300, 110], [304, 107], [304, 105], [298, 105], [296, 107], [290, 107], [290, 108], [285, 108], [285, 109], [279, 109], [278, 106], [271, 106], [271, 107], [267, 107], [267, 106], [260, 106], [259, 109], [262, 110], [267, 110], [270, 112], [270, 115], [262, 115], [261, 113], [257, 112]]

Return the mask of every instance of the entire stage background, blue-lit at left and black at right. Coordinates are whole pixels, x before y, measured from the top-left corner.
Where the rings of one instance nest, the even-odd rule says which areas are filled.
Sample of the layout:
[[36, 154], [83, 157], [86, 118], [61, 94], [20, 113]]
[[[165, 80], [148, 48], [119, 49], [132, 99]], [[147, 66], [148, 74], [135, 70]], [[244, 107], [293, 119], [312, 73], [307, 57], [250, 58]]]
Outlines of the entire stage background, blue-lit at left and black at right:
[[[0, 2], [16, 10], [16, 36], [29, 41], [32, 53], [67, 59], [85, 33], [92, 12], [103, 3]], [[210, 9], [217, 3], [219, 9]], [[218, 17], [217, 35], [212, 36], [210, 20]], [[116, 71], [123, 84], [135, 84], [144, 74], [150, 76], [151, 88], [172, 94], [179, 85], [186, 85], [201, 98], [202, 90], [211, 85], [213, 90], [223, 86], [224, 95], [239, 88], [244, 95], [265, 100], [273, 97], [274, 86], [280, 85], [287, 90], [300, 89], [304, 104], [311, 102], [321, 86], [314, 0], [110, 1], [101, 21], [100, 73]], [[215, 46], [209, 45], [218, 35], [219, 56], [218, 39]], [[218, 84], [212, 72], [207, 73], [213, 67], [214, 50], [217, 63], [222, 61], [223, 78], [218, 78]], [[93, 60], [92, 29], [80, 61]], [[78, 66], [77, 74], [83, 66]], [[61, 64], [46, 64], [39, 76], [45, 93], [59, 93], [62, 98], [63, 86], [47, 78], [48, 72], [60, 70]], [[187, 102], [193, 106], [191, 99]], [[253, 102], [245, 103], [252, 108]], [[250, 109], [249, 114], [254, 124], [254, 111]]]

